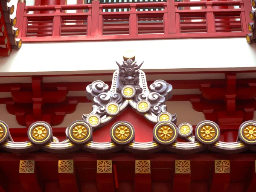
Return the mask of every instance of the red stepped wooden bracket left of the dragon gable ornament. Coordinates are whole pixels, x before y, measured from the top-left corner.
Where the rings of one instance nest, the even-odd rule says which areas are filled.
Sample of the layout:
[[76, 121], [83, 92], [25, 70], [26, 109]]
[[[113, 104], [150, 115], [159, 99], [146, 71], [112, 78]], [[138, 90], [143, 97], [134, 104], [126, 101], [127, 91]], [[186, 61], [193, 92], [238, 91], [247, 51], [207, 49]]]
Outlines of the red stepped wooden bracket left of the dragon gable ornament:
[[67, 87], [44, 89], [42, 78], [32, 77], [31, 88], [11, 87], [13, 101], [6, 102], [7, 111], [16, 116], [17, 122], [29, 127], [35, 121], [59, 125], [66, 114], [76, 110], [78, 101], [67, 99]]

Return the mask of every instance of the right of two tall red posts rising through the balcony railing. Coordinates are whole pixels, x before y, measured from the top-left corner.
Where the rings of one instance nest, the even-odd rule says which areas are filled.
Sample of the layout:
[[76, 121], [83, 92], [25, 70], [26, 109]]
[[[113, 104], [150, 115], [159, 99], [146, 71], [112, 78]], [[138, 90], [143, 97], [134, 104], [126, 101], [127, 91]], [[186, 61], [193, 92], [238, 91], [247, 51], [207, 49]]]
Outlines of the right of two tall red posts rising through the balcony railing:
[[167, 0], [167, 16], [168, 16], [168, 32], [176, 33], [176, 24], [175, 24], [175, 1]]

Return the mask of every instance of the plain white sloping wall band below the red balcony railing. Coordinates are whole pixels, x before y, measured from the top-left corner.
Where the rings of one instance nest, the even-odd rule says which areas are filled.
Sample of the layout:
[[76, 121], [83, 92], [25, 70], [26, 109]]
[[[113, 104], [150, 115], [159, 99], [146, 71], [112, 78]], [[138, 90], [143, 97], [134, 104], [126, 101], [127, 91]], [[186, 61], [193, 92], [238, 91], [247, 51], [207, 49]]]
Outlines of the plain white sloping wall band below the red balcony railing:
[[0, 75], [108, 73], [127, 50], [145, 61], [145, 72], [256, 70], [256, 46], [244, 37], [23, 43], [10, 57], [0, 58]]

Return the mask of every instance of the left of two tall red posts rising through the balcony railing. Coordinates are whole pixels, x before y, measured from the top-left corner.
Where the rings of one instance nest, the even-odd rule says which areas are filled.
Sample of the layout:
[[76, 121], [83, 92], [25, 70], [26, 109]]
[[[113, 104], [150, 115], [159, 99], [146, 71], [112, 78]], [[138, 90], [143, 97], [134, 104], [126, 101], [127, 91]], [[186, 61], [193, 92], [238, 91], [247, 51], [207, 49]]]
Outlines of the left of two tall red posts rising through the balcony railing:
[[99, 1], [92, 1], [91, 35], [99, 35]]

